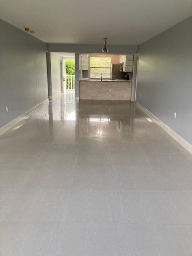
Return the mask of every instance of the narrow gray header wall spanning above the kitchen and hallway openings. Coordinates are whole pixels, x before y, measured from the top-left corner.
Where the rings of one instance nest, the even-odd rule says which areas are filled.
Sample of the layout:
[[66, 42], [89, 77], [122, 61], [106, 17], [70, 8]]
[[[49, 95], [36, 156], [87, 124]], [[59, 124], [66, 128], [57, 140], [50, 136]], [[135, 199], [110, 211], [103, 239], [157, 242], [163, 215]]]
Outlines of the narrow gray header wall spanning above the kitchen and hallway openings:
[[[49, 52], [77, 52], [77, 53], [102, 53], [103, 43], [100, 45], [86, 44], [48, 44]], [[110, 45], [107, 44], [108, 54], [134, 54], [136, 53], [136, 45]]]

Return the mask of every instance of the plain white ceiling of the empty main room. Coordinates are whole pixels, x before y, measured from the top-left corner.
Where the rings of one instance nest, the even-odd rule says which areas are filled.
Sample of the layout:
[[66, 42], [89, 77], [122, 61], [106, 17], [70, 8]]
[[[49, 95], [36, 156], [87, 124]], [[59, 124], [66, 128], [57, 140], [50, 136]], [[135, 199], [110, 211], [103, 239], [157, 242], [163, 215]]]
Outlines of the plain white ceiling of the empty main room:
[[192, 15], [192, 0], [0, 0], [0, 18], [49, 43], [140, 44]]

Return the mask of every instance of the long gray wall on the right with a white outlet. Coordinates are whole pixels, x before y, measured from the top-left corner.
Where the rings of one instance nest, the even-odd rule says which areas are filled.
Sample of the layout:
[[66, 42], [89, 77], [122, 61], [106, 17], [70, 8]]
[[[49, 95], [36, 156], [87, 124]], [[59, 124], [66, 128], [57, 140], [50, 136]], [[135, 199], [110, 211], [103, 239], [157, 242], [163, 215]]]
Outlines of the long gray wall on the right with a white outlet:
[[138, 52], [136, 101], [192, 144], [192, 16]]

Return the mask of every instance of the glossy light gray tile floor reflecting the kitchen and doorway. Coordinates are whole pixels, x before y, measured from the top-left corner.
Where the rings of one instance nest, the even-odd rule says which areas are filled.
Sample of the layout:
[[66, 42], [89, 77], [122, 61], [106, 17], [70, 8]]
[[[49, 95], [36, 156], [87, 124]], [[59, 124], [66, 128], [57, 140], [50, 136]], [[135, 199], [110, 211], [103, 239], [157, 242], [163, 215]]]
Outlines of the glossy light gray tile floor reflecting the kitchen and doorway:
[[60, 94], [0, 137], [0, 256], [191, 256], [192, 156], [127, 102]]

